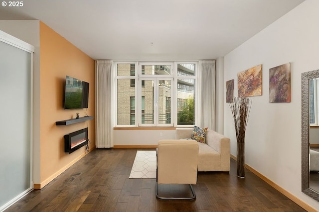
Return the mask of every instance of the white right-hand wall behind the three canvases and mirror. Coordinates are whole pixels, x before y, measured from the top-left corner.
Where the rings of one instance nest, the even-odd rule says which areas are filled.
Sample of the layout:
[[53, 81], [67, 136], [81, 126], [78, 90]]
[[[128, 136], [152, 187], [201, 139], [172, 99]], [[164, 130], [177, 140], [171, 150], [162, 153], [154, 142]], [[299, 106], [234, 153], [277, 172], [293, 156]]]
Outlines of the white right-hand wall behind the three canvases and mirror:
[[[224, 58], [224, 86], [235, 79], [235, 88], [238, 72], [262, 64], [263, 95], [252, 97], [246, 163], [317, 209], [319, 202], [301, 191], [301, 73], [319, 69], [318, 8], [318, 0], [306, 0]], [[269, 69], [286, 63], [291, 63], [291, 103], [269, 103]], [[236, 156], [227, 104], [224, 113], [224, 134]]]

